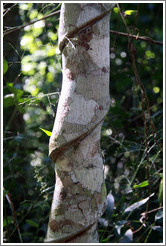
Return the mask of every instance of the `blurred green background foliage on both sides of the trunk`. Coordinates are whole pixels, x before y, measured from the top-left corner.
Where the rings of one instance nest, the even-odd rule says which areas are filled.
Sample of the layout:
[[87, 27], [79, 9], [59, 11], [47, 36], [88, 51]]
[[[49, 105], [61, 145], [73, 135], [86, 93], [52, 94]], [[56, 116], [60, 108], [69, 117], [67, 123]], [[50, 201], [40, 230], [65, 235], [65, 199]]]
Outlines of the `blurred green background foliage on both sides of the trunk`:
[[[120, 6], [124, 12], [135, 10], [125, 16], [133, 34], [162, 41], [162, 3]], [[59, 9], [57, 3], [5, 3], [4, 32]], [[40, 128], [52, 131], [61, 90], [58, 25], [59, 13], [4, 36], [3, 226], [8, 243], [40, 243], [46, 234], [54, 167], [48, 157], [49, 137]], [[117, 8], [110, 28], [126, 32]], [[99, 220], [100, 242], [161, 243], [163, 47], [133, 41], [158, 136], [150, 127], [145, 135], [141, 92], [131, 69], [127, 38], [111, 34], [110, 40], [111, 107], [101, 138], [108, 207]]]

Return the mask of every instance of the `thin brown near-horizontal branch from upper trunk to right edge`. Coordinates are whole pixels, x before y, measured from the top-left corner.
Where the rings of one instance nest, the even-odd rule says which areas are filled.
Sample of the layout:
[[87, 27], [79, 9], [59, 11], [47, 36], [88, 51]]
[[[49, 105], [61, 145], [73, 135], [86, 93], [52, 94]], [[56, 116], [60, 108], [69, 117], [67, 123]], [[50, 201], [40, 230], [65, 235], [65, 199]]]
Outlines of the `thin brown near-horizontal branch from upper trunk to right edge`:
[[132, 39], [135, 39], [135, 40], [143, 40], [145, 42], [148, 42], [148, 43], [151, 43], [151, 44], [158, 44], [158, 45], [163, 45], [163, 42], [160, 42], [160, 41], [156, 41], [150, 37], [147, 37], [147, 36], [139, 36], [139, 35], [132, 35], [132, 34], [127, 34], [127, 33], [124, 33], [124, 32], [118, 32], [118, 31], [114, 31], [114, 30], [110, 30], [110, 33], [112, 34], [115, 34], [115, 35], [119, 35], [119, 36], [123, 36], [123, 37], [130, 37]]

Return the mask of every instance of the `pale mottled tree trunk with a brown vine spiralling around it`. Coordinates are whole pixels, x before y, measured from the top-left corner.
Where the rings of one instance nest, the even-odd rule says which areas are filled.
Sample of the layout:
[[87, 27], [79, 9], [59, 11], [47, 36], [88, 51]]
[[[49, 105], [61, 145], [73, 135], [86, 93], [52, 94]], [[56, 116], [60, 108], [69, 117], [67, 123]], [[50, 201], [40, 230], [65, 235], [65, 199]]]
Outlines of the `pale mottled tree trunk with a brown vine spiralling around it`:
[[56, 184], [45, 242], [98, 242], [106, 207], [100, 130], [110, 106], [108, 12], [103, 4], [62, 4], [63, 84], [49, 144]]

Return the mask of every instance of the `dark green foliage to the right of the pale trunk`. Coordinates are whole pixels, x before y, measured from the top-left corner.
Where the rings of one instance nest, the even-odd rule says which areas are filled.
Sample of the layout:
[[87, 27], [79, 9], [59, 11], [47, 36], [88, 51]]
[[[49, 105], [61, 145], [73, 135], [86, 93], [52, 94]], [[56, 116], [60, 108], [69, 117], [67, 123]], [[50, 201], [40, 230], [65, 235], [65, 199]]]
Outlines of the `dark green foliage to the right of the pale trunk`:
[[[161, 18], [156, 21], [162, 15], [162, 4], [121, 4], [121, 8], [124, 12], [126, 9], [138, 11], [138, 16], [125, 16], [133, 34], [162, 40]], [[126, 32], [117, 9], [112, 13], [111, 29]], [[110, 205], [111, 216], [107, 215], [108, 208], [103, 216], [106, 221], [103, 223], [102, 220], [100, 224], [100, 241], [161, 243], [162, 219], [160, 222], [156, 220], [156, 214], [162, 211], [162, 196], [159, 195], [163, 168], [162, 147], [159, 144], [159, 141], [162, 143], [162, 47], [138, 40], [133, 43], [137, 50], [139, 77], [146, 88], [158, 138], [155, 140], [149, 122], [145, 135], [141, 88], [131, 69], [127, 39], [112, 36], [112, 106], [103, 125], [103, 132], [109, 128], [111, 134], [104, 134], [102, 148], [106, 184], [114, 205]], [[146, 211], [149, 214], [145, 218], [143, 213]], [[129, 236], [126, 236], [127, 232]]]

